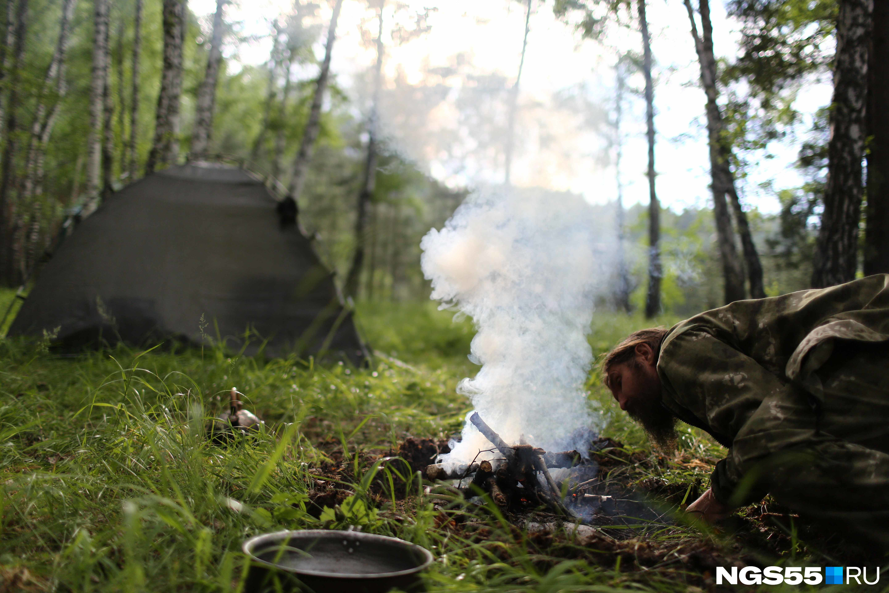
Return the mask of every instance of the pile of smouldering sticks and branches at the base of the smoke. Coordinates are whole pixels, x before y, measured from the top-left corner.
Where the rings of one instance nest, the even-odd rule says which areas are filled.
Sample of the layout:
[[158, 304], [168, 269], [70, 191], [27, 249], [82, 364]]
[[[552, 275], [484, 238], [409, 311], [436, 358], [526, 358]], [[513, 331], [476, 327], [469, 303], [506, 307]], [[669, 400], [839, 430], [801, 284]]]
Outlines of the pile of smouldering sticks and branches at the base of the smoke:
[[571, 468], [582, 462], [575, 451], [547, 453], [532, 445], [507, 445], [485, 421], [473, 413], [469, 417], [479, 432], [501, 454], [496, 467], [491, 461], [481, 461], [450, 471], [443, 465], [433, 464], [426, 468], [430, 480], [461, 480], [467, 497], [487, 493], [501, 509], [546, 507], [557, 515], [570, 515], [562, 503], [562, 493], [549, 474], [549, 468]]

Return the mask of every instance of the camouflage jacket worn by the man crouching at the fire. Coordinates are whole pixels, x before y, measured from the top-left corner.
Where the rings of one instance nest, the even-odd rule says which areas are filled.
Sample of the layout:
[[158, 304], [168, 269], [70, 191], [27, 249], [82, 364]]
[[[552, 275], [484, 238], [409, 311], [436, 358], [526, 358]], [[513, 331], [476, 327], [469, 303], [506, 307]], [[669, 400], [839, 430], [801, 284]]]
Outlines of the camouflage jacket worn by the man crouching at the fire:
[[819, 405], [816, 371], [837, 339], [889, 341], [889, 275], [736, 301], [670, 328], [657, 365], [663, 405], [728, 447], [711, 477], [717, 500], [762, 499], [768, 479], [739, 488], [742, 478], [773, 453], [817, 439], [817, 426], [800, 429], [788, 414], [805, 416], [801, 401]]

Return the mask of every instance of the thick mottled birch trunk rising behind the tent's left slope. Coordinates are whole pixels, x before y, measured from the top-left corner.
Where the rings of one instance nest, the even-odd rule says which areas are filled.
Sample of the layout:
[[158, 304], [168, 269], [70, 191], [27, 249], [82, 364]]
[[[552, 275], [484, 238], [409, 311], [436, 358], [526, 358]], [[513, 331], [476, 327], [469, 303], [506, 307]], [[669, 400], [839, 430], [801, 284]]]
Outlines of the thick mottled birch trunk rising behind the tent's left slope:
[[185, 28], [182, 0], [164, 0], [164, 69], [157, 95], [155, 138], [145, 172], [159, 165], [176, 164], [179, 158], [179, 103], [182, 91], [182, 38]]

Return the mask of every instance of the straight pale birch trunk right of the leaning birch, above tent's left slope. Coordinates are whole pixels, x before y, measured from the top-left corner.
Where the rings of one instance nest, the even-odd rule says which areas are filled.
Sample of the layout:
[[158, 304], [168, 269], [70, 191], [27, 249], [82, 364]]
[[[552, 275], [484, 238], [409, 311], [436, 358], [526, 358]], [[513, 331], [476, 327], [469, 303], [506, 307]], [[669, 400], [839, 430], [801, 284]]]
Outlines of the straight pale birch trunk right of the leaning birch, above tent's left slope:
[[91, 203], [86, 213], [98, 203], [102, 166], [102, 122], [105, 106], [105, 76], [108, 71], [108, 0], [93, 0], [92, 81], [90, 83], [90, 140], [86, 156], [86, 193]]

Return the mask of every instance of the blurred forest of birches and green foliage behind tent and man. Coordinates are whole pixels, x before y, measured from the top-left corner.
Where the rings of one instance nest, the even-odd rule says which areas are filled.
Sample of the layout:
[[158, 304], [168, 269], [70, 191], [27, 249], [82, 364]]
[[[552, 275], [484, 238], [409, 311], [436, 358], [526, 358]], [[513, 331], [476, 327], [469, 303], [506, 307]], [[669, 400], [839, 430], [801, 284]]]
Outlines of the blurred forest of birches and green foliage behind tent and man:
[[[881, 3], [871, 15], [863, 0], [732, 0], [725, 10], [737, 53], [725, 60], [714, 56], [708, 2], [673, 7], [688, 12], [691, 28], [661, 35], [696, 49], [712, 171], [709, 203], [682, 210], [657, 199], [653, 157], [663, 139], [653, 114], [669, 72], [651, 51], [645, 2], [508, 3], [526, 15], [516, 71], [476, 68], [471, 55], [457, 53], [449, 66], [427, 63], [418, 80], [400, 69], [390, 76], [383, 64], [387, 51], [428, 35], [436, 9], [371, 0], [361, 4], [359, 29], [376, 60], [349, 76], [348, 86], [329, 70], [329, 53], [337, 51], [332, 17], [342, 4], [297, 0], [258, 34], [227, 16], [244, 6], [224, 1], [215, 15], [197, 18], [179, 0], [8, 0], [0, 284], [27, 290], [76, 221], [127, 183], [212, 154], [240, 159], [296, 198], [301, 224], [319, 239], [348, 296], [425, 299], [420, 237], [477, 185], [509, 184], [527, 122], [536, 122], [541, 137], [555, 111], [570, 113], [595, 139], [581, 154], [589, 168], [618, 177], [613, 199], [593, 205], [614, 221], [614, 236], [603, 241], [621, 244], [613, 294], [600, 305], [689, 315], [889, 271], [878, 241], [889, 224], [885, 184], [879, 187], [889, 126], [878, 108], [865, 121], [864, 108], [885, 104], [885, 82], [867, 84], [885, 81], [878, 69], [889, 63], [879, 60]], [[577, 44], [605, 48], [591, 68], [600, 82], [607, 71], [612, 84], [565, 90], [548, 105], [523, 95], [525, 52], [544, 51], [528, 49], [531, 17], [541, 11], [553, 12]], [[271, 42], [266, 63], [239, 60], [260, 37]], [[840, 62], [848, 76], [834, 74]], [[831, 78], [833, 108], [799, 108], [802, 90]], [[634, 122], [642, 107], [646, 121]], [[453, 126], [431, 132], [428, 122], [443, 109]], [[641, 135], [634, 124], [645, 123], [650, 200], [626, 208], [621, 158]], [[797, 149], [797, 187], [755, 174], [779, 142]], [[467, 173], [473, 168], [485, 175]], [[753, 193], [777, 207], [761, 212], [745, 203]]]

